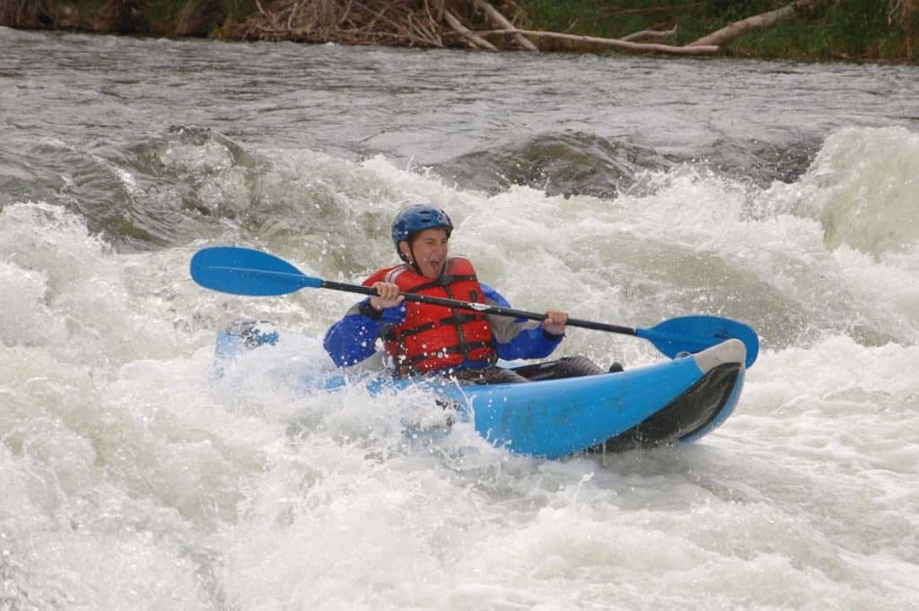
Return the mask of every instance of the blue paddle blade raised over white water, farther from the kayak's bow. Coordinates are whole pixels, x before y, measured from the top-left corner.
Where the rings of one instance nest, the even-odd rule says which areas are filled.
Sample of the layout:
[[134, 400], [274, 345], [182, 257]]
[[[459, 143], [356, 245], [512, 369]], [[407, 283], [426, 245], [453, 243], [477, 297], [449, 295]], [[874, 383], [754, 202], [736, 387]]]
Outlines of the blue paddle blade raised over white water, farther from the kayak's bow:
[[323, 284], [277, 256], [236, 246], [199, 250], [191, 257], [191, 277], [206, 289], [233, 295], [284, 295]]

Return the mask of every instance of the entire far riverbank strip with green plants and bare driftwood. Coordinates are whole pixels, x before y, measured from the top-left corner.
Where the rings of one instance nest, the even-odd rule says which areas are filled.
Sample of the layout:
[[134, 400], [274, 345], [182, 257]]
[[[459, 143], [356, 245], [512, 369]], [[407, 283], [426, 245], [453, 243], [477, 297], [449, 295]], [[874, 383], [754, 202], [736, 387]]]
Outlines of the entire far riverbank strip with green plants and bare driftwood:
[[919, 0], [0, 0], [0, 25], [488, 51], [919, 61]]

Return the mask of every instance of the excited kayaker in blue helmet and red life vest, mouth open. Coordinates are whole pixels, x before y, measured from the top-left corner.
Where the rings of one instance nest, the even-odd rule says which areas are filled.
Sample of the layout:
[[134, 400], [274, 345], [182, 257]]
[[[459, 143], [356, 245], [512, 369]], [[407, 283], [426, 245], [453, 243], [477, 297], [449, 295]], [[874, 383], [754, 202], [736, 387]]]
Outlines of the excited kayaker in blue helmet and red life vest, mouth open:
[[380, 338], [400, 377], [437, 372], [486, 383], [604, 373], [584, 356], [516, 370], [495, 366], [499, 358], [549, 356], [564, 337], [565, 311], [550, 310], [544, 321], [528, 322], [405, 301], [402, 292], [510, 308], [478, 280], [469, 259], [448, 255], [451, 232], [447, 213], [433, 206], [414, 205], [396, 216], [392, 242], [404, 263], [364, 280], [378, 295], [352, 306], [325, 334], [323, 346], [335, 365], [348, 367], [372, 356]]

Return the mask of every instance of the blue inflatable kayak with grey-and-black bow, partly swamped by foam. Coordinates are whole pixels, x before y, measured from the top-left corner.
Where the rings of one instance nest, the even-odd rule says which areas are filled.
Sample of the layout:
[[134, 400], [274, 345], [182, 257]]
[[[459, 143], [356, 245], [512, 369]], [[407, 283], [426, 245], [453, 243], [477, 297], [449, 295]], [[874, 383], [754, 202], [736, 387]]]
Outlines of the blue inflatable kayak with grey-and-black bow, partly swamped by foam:
[[[234, 323], [218, 334], [217, 356], [274, 344], [278, 331]], [[455, 379], [374, 379], [374, 392], [424, 385], [442, 409], [472, 420], [478, 433], [517, 454], [560, 458], [584, 451], [623, 451], [698, 439], [723, 423], [743, 388], [745, 346], [738, 339], [646, 367], [582, 378], [519, 384]], [[334, 391], [340, 376], [315, 387]], [[436, 409], [432, 406], [432, 409]]]

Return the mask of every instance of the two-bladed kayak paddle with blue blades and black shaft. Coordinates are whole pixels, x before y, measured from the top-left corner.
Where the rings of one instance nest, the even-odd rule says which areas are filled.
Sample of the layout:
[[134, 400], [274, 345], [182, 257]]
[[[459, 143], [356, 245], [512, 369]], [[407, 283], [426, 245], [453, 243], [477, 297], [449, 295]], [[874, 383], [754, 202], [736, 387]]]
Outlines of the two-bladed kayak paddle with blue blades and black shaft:
[[[306, 276], [299, 269], [275, 255], [236, 246], [204, 248], [191, 257], [191, 277], [206, 289], [233, 295], [285, 295], [300, 289], [332, 289], [361, 295], [376, 295], [376, 289]], [[542, 312], [513, 310], [473, 301], [448, 300], [429, 295], [401, 293], [405, 300], [419, 303], [480, 311], [484, 314], [511, 316], [531, 321], [543, 321]], [[737, 338], [746, 346], [746, 367], [754, 364], [759, 354], [756, 332], [743, 322], [719, 316], [681, 316], [660, 322], [650, 329], [639, 329], [569, 318], [568, 325], [634, 335], [650, 341], [664, 355], [674, 358], [697, 353], [721, 342]]]

